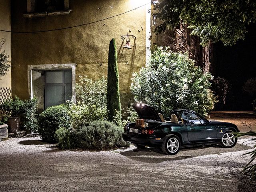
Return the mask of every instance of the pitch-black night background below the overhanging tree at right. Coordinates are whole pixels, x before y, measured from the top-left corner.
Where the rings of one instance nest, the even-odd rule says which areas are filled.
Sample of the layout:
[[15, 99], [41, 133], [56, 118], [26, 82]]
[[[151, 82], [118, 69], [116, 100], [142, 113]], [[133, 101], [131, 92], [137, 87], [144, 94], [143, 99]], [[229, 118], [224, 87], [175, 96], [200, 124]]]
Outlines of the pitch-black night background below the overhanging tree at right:
[[245, 39], [236, 45], [214, 44], [214, 76], [225, 78], [232, 84], [224, 110], [252, 110], [254, 98], [244, 93], [242, 86], [247, 79], [256, 77], [256, 24], [247, 30]]

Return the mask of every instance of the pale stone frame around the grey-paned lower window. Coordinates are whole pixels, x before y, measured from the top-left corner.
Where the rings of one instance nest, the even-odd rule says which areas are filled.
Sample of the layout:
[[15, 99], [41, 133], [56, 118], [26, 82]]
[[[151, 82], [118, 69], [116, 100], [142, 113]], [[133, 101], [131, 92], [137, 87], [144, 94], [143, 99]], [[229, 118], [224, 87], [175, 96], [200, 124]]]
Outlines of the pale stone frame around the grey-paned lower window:
[[76, 93], [74, 87], [76, 86], [76, 64], [42, 64], [42, 65], [29, 65], [28, 66], [28, 93], [30, 98], [33, 98], [32, 86], [32, 70], [53, 71], [53, 70], [71, 70], [72, 71], [72, 100], [76, 102]]

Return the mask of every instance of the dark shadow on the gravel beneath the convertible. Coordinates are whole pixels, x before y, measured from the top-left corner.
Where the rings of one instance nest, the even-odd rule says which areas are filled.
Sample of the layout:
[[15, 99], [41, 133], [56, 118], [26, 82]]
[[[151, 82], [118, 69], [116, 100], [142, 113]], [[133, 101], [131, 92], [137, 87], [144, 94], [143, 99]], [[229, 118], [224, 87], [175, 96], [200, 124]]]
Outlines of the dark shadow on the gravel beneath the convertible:
[[178, 154], [172, 156], [164, 154], [158, 148], [150, 147], [145, 149], [136, 148], [134, 150], [121, 152], [120, 154], [140, 162], [161, 163], [164, 161], [182, 160], [210, 154], [222, 155], [222, 153], [248, 150], [250, 148], [250, 146], [243, 144], [236, 144], [233, 148], [221, 148], [220, 146], [190, 147], [183, 148], [178, 152]]

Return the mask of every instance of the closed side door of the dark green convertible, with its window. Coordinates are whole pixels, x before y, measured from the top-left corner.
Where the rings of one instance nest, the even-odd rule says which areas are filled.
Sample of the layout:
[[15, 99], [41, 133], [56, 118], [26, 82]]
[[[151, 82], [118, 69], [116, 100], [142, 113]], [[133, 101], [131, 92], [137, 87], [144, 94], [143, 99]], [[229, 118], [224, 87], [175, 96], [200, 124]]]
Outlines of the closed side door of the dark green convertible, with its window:
[[216, 126], [206, 123], [196, 114], [192, 114], [192, 118], [188, 118], [187, 131], [188, 140], [192, 143], [212, 142], [217, 135]]

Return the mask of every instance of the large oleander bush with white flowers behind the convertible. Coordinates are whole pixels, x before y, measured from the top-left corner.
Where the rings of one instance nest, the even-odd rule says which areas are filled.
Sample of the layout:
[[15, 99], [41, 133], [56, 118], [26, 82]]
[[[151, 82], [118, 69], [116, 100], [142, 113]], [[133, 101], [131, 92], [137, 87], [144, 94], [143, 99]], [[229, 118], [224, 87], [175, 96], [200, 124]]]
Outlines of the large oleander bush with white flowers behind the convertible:
[[164, 116], [179, 108], [207, 116], [215, 102], [210, 90], [212, 78], [187, 55], [159, 47], [151, 54], [150, 62], [133, 74], [130, 90], [134, 100], [150, 104]]

